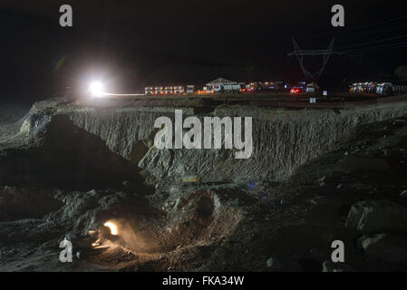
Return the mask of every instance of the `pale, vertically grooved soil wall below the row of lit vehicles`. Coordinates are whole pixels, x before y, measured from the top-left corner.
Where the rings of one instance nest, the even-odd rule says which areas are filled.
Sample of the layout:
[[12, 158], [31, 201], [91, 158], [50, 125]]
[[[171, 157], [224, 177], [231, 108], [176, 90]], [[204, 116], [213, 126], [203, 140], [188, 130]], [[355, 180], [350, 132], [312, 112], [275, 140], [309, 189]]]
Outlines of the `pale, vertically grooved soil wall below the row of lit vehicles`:
[[[160, 116], [174, 120], [174, 109], [117, 109], [73, 111], [73, 123], [106, 141], [122, 157], [139, 162], [157, 179], [179, 180], [198, 175], [207, 181], [286, 179], [298, 166], [329, 150], [334, 141], [359, 124], [405, 116], [405, 102], [344, 111], [280, 111], [259, 108], [219, 107], [200, 114], [253, 118], [253, 154], [236, 160], [233, 150], [157, 150], [151, 147]], [[193, 111], [184, 109], [183, 115]], [[137, 153], [141, 152], [139, 156]], [[145, 154], [142, 158], [141, 155]], [[134, 158], [134, 156], [137, 156]]]

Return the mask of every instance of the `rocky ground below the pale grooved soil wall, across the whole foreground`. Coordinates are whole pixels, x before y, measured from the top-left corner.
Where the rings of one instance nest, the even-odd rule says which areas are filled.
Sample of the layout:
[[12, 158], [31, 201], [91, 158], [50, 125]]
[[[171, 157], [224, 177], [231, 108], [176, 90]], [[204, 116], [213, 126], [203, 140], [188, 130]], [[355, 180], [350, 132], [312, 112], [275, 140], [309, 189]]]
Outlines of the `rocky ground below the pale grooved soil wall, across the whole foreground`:
[[[0, 131], [0, 271], [407, 270], [407, 118], [346, 131], [284, 180], [159, 186], [64, 116], [23, 127]], [[108, 220], [119, 237], [90, 246]]]

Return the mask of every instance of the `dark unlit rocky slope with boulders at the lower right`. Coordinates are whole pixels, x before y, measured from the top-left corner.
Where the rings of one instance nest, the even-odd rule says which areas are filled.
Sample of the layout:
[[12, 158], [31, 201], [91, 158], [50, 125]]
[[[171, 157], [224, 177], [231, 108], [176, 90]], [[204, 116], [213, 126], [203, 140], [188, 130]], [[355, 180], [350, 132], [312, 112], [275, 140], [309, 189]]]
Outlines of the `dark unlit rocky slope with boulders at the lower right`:
[[[258, 184], [260, 201], [203, 268], [407, 270], [406, 147], [407, 119], [363, 125], [290, 179]], [[334, 240], [344, 264], [329, 262]]]

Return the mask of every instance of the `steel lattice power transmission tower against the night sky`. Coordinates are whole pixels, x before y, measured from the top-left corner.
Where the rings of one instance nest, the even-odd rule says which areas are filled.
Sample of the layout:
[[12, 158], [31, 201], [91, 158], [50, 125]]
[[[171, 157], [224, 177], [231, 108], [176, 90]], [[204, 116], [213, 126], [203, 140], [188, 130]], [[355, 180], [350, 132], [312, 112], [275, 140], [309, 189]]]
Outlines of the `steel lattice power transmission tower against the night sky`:
[[[329, 58], [331, 57], [332, 54], [339, 54], [333, 51], [334, 48], [334, 39], [329, 43], [328, 48], [326, 50], [308, 50], [304, 51], [301, 50], [301, 48], [298, 46], [296, 43], [296, 40], [293, 38], [293, 43], [294, 43], [294, 52], [293, 53], [288, 53], [288, 56], [293, 56], [296, 55], [296, 59], [298, 60], [298, 63], [300, 63], [301, 69], [303, 70], [305, 74], [306, 80], [309, 81], [317, 81], [321, 78], [322, 73], [324, 73], [326, 63], [328, 63]], [[323, 57], [323, 64], [321, 68], [316, 71], [315, 73], [310, 73], [304, 65], [304, 57], [305, 56], [322, 56]]]

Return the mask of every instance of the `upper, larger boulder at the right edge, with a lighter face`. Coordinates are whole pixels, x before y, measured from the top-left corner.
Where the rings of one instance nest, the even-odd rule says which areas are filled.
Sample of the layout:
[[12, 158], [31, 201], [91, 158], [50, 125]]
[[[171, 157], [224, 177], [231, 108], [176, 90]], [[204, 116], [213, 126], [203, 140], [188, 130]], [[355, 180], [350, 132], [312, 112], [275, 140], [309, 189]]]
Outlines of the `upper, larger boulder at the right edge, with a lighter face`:
[[407, 232], [407, 208], [387, 200], [361, 201], [352, 206], [345, 227], [370, 234]]

